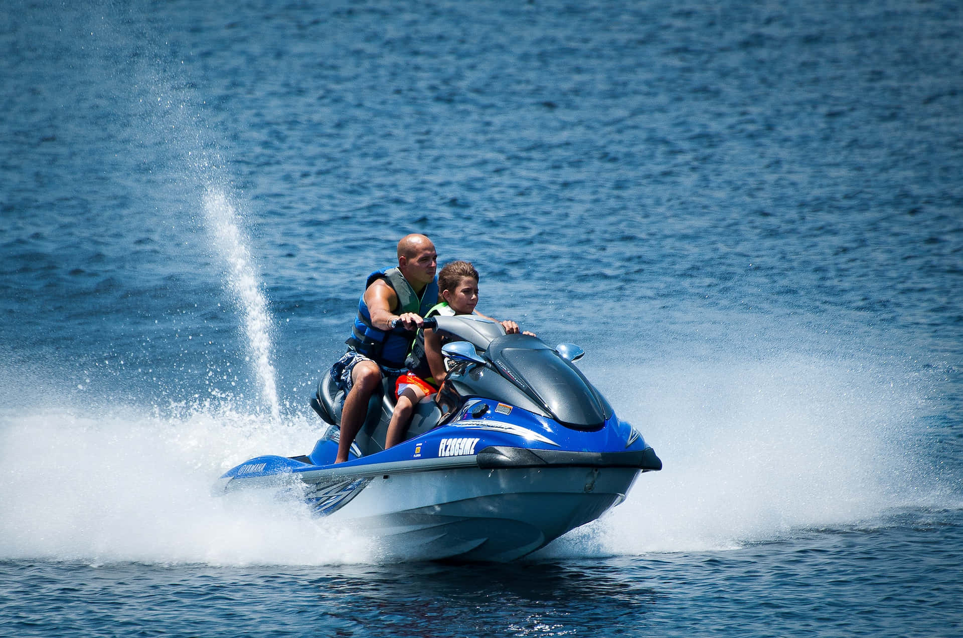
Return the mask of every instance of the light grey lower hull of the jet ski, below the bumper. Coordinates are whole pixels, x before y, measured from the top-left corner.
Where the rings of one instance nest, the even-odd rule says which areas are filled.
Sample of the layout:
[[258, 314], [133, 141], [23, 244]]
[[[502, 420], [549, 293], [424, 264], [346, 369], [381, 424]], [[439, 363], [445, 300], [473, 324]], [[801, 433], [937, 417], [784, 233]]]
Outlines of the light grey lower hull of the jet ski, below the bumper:
[[637, 476], [633, 468], [389, 474], [371, 479], [329, 520], [377, 538], [394, 558], [504, 562], [599, 518]]

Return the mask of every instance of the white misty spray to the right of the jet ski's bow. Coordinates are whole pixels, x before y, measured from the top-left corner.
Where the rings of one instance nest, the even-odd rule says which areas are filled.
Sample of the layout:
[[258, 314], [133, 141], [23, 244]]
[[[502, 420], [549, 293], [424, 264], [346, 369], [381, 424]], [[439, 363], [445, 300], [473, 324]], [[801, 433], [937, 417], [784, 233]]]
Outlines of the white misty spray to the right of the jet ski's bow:
[[600, 385], [664, 469], [640, 474], [626, 502], [543, 553], [737, 549], [899, 508], [960, 506], [914, 436], [924, 397], [911, 374], [787, 355], [606, 377], [635, 380]]

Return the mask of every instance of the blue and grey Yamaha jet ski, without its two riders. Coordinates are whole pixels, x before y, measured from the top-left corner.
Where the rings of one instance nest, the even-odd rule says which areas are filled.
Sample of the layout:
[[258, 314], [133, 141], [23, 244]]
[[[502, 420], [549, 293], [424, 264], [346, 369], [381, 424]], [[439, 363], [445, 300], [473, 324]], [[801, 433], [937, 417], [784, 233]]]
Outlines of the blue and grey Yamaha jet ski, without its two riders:
[[474, 316], [426, 319], [448, 343], [435, 400], [419, 403], [402, 444], [384, 449], [393, 379], [372, 396], [349, 461], [334, 465], [344, 393], [330, 375], [311, 405], [325, 426], [310, 453], [259, 456], [217, 491], [299, 486], [312, 511], [403, 559], [507, 562], [598, 519], [662, 461], [575, 365]]

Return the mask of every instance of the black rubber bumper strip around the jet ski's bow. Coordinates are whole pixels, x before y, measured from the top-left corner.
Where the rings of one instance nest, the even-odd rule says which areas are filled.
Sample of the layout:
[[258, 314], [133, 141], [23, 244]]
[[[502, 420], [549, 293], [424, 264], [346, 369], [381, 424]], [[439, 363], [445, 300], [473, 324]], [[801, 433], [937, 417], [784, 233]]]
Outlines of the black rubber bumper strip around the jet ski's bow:
[[572, 452], [563, 449], [527, 449], [489, 446], [478, 453], [482, 470], [502, 468], [638, 468], [662, 470], [662, 460], [651, 447], [627, 452]]

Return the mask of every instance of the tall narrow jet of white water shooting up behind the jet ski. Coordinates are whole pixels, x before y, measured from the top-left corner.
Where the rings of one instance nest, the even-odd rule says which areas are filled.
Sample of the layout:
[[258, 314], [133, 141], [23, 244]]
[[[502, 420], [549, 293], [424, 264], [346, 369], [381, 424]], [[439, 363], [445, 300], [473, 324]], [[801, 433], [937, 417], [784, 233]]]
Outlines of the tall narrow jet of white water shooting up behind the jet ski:
[[271, 363], [271, 316], [268, 302], [258, 285], [250, 252], [247, 250], [247, 238], [241, 231], [236, 209], [223, 191], [210, 189], [204, 194], [204, 213], [215, 246], [227, 264], [230, 289], [244, 311], [247, 347], [254, 363], [261, 396], [273, 421], [280, 421], [276, 374]]

